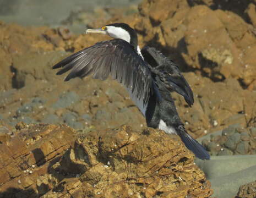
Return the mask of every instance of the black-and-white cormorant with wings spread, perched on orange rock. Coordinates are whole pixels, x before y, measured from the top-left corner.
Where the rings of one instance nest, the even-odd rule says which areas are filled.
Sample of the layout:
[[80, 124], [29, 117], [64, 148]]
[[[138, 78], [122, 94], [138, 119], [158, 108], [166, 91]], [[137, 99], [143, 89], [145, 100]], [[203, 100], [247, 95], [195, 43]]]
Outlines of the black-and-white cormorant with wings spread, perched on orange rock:
[[114, 39], [95, 43], [61, 62], [53, 69], [56, 74], [70, 70], [64, 81], [92, 75], [92, 79], [106, 80], [111, 76], [128, 91], [151, 128], [167, 134], [177, 134], [184, 145], [201, 160], [209, 160], [208, 151], [190, 136], [179, 118], [171, 92], [184, 97], [188, 106], [194, 103], [193, 92], [178, 65], [154, 47], [140, 50], [137, 32], [125, 23], [112, 23], [100, 29], [87, 29], [86, 34], [104, 34]]

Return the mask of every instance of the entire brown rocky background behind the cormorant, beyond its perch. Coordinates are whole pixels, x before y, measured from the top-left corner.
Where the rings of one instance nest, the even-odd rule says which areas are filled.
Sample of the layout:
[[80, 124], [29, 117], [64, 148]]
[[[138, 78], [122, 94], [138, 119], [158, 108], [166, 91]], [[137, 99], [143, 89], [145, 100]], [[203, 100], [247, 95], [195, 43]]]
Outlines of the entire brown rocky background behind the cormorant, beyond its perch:
[[[186, 72], [195, 103], [189, 108], [181, 96], [173, 94], [173, 98], [194, 138], [231, 124], [256, 125], [254, 4], [244, 1], [228, 9], [228, 4], [218, 4], [145, 0], [139, 13], [89, 24], [128, 23], [139, 33], [141, 47], [154, 46], [178, 63]], [[51, 69], [70, 51], [106, 39], [75, 36], [63, 27], [28, 29], [1, 23], [0, 118], [13, 126], [23, 121], [66, 123], [80, 130], [122, 124], [144, 128], [144, 118], [115, 81], [86, 78], [64, 83], [64, 76], [56, 76]]]

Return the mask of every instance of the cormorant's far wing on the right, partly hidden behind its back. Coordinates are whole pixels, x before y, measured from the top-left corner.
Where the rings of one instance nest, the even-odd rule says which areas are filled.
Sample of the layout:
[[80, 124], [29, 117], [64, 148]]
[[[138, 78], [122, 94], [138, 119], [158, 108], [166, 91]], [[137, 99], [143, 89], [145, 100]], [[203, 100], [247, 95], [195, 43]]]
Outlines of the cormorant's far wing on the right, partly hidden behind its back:
[[144, 60], [151, 65], [151, 72], [159, 76], [165, 87], [182, 95], [188, 105], [192, 106], [194, 103], [193, 92], [177, 65], [155, 48], [144, 47], [141, 53]]

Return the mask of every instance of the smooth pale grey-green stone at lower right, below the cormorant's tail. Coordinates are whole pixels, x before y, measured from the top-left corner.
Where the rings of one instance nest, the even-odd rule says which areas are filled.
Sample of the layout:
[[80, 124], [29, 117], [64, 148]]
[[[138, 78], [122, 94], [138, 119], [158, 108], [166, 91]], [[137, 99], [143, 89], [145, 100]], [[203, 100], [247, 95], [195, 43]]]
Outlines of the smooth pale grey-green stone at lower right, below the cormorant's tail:
[[256, 179], [256, 155], [211, 156], [195, 163], [211, 182], [214, 197], [235, 197], [239, 186]]

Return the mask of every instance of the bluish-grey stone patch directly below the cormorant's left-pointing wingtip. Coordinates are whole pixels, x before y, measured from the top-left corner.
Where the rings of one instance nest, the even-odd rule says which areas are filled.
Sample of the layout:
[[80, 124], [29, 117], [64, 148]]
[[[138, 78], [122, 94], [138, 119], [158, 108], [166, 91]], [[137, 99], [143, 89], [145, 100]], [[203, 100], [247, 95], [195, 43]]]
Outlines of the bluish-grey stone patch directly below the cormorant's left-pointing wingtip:
[[75, 92], [67, 92], [61, 96], [59, 96], [59, 100], [52, 105], [52, 108], [66, 108], [74, 103], [78, 102], [80, 96], [75, 94]]

